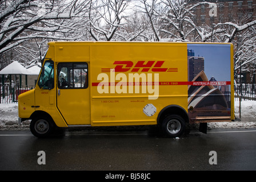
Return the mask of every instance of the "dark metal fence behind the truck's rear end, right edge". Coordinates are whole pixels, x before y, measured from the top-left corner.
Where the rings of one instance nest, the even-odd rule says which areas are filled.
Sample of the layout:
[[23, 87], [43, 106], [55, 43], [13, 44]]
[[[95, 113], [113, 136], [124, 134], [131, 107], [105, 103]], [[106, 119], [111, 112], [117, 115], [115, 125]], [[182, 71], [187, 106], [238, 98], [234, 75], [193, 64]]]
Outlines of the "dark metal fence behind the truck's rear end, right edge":
[[234, 85], [235, 101], [256, 101], [256, 84], [237, 84]]

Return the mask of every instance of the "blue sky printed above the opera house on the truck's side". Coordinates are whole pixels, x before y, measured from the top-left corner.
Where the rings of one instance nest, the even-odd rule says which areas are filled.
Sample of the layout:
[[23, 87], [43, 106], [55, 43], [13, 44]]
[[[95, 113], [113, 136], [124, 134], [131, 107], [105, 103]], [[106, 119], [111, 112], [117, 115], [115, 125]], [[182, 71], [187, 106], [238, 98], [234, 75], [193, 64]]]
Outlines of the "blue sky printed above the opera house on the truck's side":
[[210, 80], [230, 81], [230, 44], [187, 44], [195, 56], [205, 57], [205, 73]]

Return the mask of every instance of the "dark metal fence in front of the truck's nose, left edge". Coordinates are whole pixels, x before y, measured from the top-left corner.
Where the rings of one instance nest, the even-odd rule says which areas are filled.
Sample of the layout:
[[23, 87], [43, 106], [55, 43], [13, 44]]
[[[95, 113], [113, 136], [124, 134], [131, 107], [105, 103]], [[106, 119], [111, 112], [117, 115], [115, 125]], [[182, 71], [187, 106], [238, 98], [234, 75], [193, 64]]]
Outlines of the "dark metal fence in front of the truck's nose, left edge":
[[12, 84], [7, 82], [4, 85], [0, 83], [0, 104], [17, 103], [19, 94], [27, 92], [33, 88], [34, 86], [19, 86], [19, 84], [14, 84], [14, 82]]

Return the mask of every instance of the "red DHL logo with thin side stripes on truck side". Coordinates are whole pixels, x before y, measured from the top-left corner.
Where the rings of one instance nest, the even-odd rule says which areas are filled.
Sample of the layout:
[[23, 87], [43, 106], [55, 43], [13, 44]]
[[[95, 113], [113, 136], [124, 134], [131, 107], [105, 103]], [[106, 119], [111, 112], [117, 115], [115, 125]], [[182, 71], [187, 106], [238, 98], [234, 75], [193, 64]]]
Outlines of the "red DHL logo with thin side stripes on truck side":
[[[115, 61], [115, 72], [178, 72], [178, 68], [162, 68], [165, 61], [137, 61], [134, 65], [133, 61]], [[101, 72], [110, 72], [113, 68], [102, 68]]]

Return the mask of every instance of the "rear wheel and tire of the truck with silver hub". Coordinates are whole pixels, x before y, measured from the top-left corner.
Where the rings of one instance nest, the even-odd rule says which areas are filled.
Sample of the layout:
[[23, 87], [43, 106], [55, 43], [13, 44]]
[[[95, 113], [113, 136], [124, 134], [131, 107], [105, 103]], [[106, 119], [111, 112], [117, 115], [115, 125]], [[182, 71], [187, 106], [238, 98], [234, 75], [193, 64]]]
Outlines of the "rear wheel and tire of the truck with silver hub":
[[167, 137], [180, 137], [186, 128], [185, 120], [176, 114], [170, 114], [163, 119], [162, 131]]

